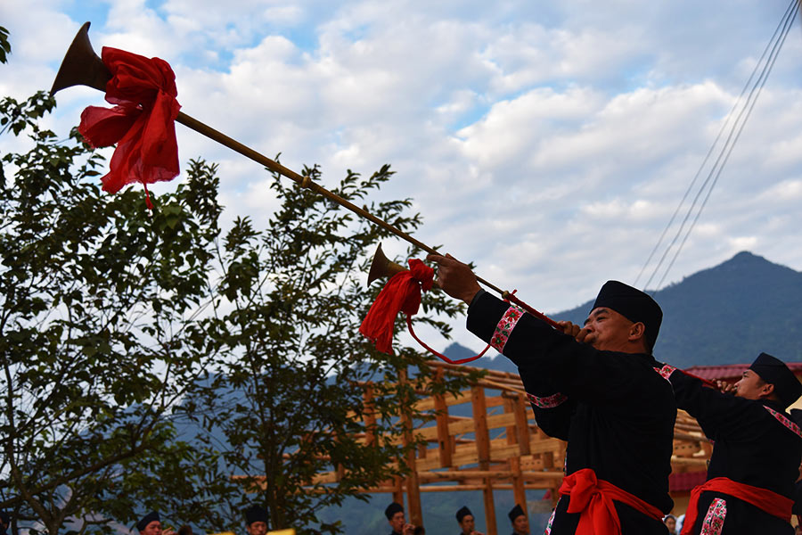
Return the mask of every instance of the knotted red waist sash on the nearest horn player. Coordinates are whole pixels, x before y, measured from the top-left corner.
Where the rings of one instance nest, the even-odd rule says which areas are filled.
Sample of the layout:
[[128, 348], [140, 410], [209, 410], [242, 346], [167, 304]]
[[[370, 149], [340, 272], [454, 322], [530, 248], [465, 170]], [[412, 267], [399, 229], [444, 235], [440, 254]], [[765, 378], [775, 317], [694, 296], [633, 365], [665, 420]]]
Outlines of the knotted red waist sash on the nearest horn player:
[[613, 500], [633, 507], [655, 520], [663, 512], [634, 494], [618, 488], [609, 481], [596, 479], [591, 468], [583, 468], [565, 476], [560, 494], [570, 496], [568, 513], [579, 513], [577, 535], [621, 535], [621, 521]]

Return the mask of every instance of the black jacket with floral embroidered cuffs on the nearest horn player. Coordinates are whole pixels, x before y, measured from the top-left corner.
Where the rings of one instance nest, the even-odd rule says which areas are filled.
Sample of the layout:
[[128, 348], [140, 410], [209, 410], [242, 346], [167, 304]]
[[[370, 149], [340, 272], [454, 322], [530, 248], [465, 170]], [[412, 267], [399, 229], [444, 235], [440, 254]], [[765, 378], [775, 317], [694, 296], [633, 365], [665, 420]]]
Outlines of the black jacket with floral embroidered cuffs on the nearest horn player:
[[[566, 472], [592, 468], [597, 478], [671, 511], [676, 405], [671, 384], [650, 355], [595, 350], [536, 317], [480, 292], [468, 329], [518, 366], [537, 424], [568, 441]], [[573, 533], [578, 514], [561, 498], [552, 534]], [[623, 533], [665, 533], [657, 520], [616, 502]]]

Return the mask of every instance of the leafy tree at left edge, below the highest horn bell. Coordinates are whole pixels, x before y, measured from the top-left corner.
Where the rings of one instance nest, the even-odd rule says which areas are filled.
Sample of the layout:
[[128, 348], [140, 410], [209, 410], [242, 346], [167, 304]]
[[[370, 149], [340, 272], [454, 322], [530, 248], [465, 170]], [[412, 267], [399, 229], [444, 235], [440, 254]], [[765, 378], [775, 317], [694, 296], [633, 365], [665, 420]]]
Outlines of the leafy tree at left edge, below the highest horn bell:
[[102, 158], [38, 126], [53, 105], [0, 102], [4, 132], [32, 147], [0, 159], [0, 507], [14, 532], [109, 532], [135, 518], [108, 499], [131, 466], [194, 456], [169, 416], [213, 358], [192, 314], [209, 300], [217, 179], [193, 166], [153, 214], [141, 191], [102, 193]]

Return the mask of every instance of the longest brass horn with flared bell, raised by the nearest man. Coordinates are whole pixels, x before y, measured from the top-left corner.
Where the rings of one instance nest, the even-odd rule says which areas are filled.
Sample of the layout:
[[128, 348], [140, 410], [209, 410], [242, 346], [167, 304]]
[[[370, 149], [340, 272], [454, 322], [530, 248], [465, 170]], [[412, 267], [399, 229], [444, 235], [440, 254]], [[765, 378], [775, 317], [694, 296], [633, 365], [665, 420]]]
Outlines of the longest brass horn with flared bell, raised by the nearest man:
[[[53, 81], [53, 87], [50, 90], [51, 95], [55, 95], [58, 91], [61, 91], [61, 89], [70, 86], [89, 86], [100, 91], [106, 90], [106, 83], [111, 79], [111, 73], [103, 64], [101, 58], [98, 57], [97, 53], [94, 53], [92, 44], [89, 41], [89, 24], [89, 22], [85, 22], [81, 29], [78, 30], [78, 34], [73, 39], [72, 45], [70, 45], [70, 48], [64, 55], [64, 60], [61, 62], [61, 68], [59, 69], [55, 81]], [[217, 141], [217, 143], [224, 144], [229, 149], [239, 152], [246, 158], [262, 164], [267, 169], [279, 173], [284, 177], [290, 178], [299, 186], [306, 187], [315, 193], [319, 193], [332, 202], [337, 202], [340, 204], [340, 206], [351, 210], [362, 218], [372, 221], [376, 225], [381, 226], [381, 228], [394, 235], [397, 235], [399, 238], [412, 243], [415, 247], [430, 253], [440, 254], [437, 250], [431, 248], [425, 243], [419, 242], [411, 235], [406, 234], [403, 230], [390, 225], [387, 221], [377, 218], [369, 211], [359, 208], [352, 202], [346, 201], [340, 197], [340, 195], [331, 193], [322, 185], [313, 182], [310, 177], [304, 177], [292, 169], [285, 168], [277, 161], [267, 158], [265, 155], [254, 151], [250, 147], [241, 144], [229, 136], [226, 136], [215, 128], [209, 127], [200, 120], [193, 119], [183, 111], [178, 112], [176, 121], [180, 122], [185, 127], [192, 128], [192, 130], [198, 132], [202, 136], [207, 136]], [[494, 284], [488, 283], [485, 279], [479, 276], [477, 276], [477, 281], [479, 281], [480, 284], [484, 284], [487, 286], [487, 288], [493, 290], [494, 292], [498, 292], [503, 297], [509, 295], [509, 292], [504, 292], [502, 289], [496, 287]]]

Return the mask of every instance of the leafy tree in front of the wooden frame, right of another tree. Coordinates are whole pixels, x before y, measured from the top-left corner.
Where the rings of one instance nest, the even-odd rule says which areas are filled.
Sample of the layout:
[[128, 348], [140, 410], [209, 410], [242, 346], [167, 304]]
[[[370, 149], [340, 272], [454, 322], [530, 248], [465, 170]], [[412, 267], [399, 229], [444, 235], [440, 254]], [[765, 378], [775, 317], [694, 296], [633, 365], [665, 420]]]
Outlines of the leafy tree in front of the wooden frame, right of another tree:
[[[321, 178], [316, 167], [304, 174]], [[332, 191], [363, 203], [391, 175], [389, 166], [368, 178], [349, 171]], [[192, 392], [187, 412], [202, 415], [201, 440], [219, 446], [229, 475], [248, 476], [217, 489], [228, 525], [240, 524], [242, 508], [257, 503], [266, 506], [271, 529], [337, 532], [340, 523], [317, 520], [322, 507], [364, 498], [360, 489], [404, 470], [397, 464], [406, 451], [398, 416], [421, 417], [413, 408], [416, 393], [455, 391], [465, 379], [434, 384], [427, 381], [426, 354], [402, 347], [387, 356], [372, 349], [358, 328], [378, 288], [367, 289], [364, 279], [368, 256], [387, 232], [288, 183], [274, 177], [282, 207], [264, 230], [238, 218], [220, 243], [217, 299], [204, 330], [209, 350], [225, 358]], [[366, 208], [405, 230], [420, 224], [418, 216], [406, 215], [409, 200]], [[425, 296], [424, 309], [458, 311], [437, 292]], [[417, 321], [448, 332], [426, 315]], [[421, 373], [399, 385], [407, 367]], [[374, 389], [372, 429], [364, 425], [367, 382]], [[365, 432], [385, 438], [368, 444]], [[334, 470], [336, 483], [315, 480]]]

